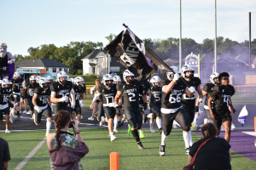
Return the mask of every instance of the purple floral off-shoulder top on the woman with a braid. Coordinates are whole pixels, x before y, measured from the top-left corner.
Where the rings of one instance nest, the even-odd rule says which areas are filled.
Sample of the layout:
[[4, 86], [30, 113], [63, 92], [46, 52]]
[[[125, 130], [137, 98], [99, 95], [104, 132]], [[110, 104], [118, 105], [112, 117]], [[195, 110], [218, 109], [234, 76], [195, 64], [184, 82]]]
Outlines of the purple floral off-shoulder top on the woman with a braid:
[[[55, 146], [57, 141], [55, 139]], [[49, 150], [50, 169], [54, 170], [71, 170], [83, 169], [80, 160], [84, 157], [89, 149], [84, 142], [80, 142], [75, 136], [68, 133], [61, 134], [61, 148]]]

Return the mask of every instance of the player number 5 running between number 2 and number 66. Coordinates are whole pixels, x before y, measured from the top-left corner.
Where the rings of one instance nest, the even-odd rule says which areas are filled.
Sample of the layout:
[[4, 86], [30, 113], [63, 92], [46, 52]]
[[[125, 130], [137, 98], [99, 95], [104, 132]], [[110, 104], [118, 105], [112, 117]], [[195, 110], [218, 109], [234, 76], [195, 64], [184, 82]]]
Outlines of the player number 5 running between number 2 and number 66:
[[154, 133], [154, 119], [159, 129], [159, 133], [161, 134], [162, 129], [162, 120], [161, 120], [161, 97], [162, 97], [162, 90], [160, 88], [160, 77], [154, 76], [150, 79], [151, 82], [151, 89], [150, 89], [150, 100], [149, 100], [149, 108], [151, 113], [150, 119], [150, 131]]

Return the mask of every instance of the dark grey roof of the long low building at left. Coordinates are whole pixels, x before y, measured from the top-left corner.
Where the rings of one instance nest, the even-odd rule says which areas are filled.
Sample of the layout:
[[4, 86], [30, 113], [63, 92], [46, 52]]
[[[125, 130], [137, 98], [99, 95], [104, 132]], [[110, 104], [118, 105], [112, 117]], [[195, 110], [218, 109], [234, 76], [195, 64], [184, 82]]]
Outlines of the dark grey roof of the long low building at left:
[[23, 59], [15, 62], [17, 67], [70, 67], [53, 59]]

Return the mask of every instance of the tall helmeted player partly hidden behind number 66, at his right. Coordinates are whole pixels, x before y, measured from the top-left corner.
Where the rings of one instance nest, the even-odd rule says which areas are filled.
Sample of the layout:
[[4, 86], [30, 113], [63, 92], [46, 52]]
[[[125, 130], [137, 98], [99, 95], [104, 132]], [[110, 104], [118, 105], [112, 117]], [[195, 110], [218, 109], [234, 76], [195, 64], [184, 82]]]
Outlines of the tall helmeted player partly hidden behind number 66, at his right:
[[[199, 94], [197, 101], [199, 103], [202, 103], [203, 94], [201, 92], [201, 79], [199, 77], [194, 77], [194, 72], [195, 72], [194, 67], [192, 65], [183, 65], [181, 72], [182, 72], [183, 81], [186, 82], [185, 84], [189, 85], [189, 87], [195, 88], [195, 90]], [[182, 106], [183, 106], [183, 109], [186, 111], [186, 113], [190, 117], [190, 124], [194, 121], [194, 118], [195, 118], [195, 99], [196, 99], [195, 94], [191, 97], [187, 96], [187, 94], [183, 94], [182, 96]], [[197, 109], [198, 109], [198, 105], [197, 105]], [[189, 138], [187, 138], [188, 134], [189, 134]], [[187, 133], [183, 131], [183, 139], [185, 141], [187, 155], [189, 155], [189, 148], [193, 144], [191, 132], [189, 131]]]

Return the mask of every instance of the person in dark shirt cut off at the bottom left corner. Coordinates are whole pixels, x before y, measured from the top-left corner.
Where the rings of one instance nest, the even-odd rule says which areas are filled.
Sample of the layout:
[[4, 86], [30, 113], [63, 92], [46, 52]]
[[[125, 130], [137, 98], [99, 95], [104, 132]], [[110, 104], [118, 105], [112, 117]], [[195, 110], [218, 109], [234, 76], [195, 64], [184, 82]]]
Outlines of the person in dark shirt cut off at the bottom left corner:
[[0, 150], [0, 169], [7, 169], [8, 161], [10, 160], [9, 145], [3, 138], [0, 138]]

